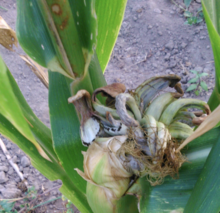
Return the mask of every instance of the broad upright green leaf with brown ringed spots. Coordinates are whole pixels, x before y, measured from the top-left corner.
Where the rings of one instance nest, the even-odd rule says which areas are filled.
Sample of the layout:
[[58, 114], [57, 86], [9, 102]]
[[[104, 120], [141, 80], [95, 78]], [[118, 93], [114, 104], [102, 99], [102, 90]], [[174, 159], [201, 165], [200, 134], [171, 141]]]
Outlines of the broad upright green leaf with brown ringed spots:
[[17, 8], [17, 36], [25, 52], [69, 78], [84, 76], [96, 44], [94, 2], [19, 0]]

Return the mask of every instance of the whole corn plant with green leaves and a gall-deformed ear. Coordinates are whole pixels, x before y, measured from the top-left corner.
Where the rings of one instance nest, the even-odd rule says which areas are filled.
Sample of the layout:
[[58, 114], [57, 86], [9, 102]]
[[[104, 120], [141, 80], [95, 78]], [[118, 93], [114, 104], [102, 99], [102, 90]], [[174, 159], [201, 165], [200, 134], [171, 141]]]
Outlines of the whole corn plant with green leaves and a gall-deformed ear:
[[[216, 64], [208, 105], [182, 98], [176, 75], [153, 77], [127, 93], [123, 84], [106, 85], [103, 72], [126, 0], [17, 0], [18, 41], [48, 69], [51, 130], [0, 59], [1, 134], [45, 177], [62, 180], [60, 191], [83, 213], [218, 212], [220, 7], [215, 4], [203, 1]], [[13, 39], [0, 31], [0, 43], [11, 48], [16, 37], [3, 32]], [[173, 92], [160, 93], [168, 87]]]

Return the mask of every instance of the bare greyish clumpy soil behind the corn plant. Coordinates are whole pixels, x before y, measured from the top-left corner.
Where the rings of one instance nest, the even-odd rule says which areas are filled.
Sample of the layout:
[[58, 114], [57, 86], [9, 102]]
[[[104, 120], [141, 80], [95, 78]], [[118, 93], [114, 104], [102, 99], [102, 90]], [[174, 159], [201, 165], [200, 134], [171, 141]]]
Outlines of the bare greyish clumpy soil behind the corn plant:
[[[194, 69], [209, 74], [204, 79], [208, 91], [201, 92], [199, 96], [186, 92], [184, 97], [208, 100], [214, 88], [215, 70], [206, 24], [185, 25], [183, 11], [178, 7], [183, 5], [183, 1], [175, 2], [176, 5], [171, 0], [128, 0], [119, 37], [105, 72], [109, 84], [123, 82], [127, 89], [134, 89], [149, 77], [178, 74], [182, 77], [182, 87], [186, 91], [188, 80], [194, 76], [190, 70]], [[0, 6], [7, 9], [0, 7], [0, 15], [15, 29], [16, 1], [1, 0]], [[195, 12], [199, 7], [199, 1], [194, 1], [189, 10]], [[16, 52], [10, 52], [1, 46], [0, 53], [35, 114], [49, 126], [48, 90], [18, 56], [23, 53], [22, 49], [19, 47]], [[21, 159], [25, 154], [10, 141], [4, 139], [4, 143], [29, 186], [34, 186], [38, 193], [61, 184], [60, 181], [47, 180], [27, 159], [24, 165]], [[14, 190], [9, 198], [24, 196], [17, 186], [20, 179], [1, 150], [0, 173], [5, 175], [5, 182], [0, 184], [0, 198], [6, 198], [3, 192], [8, 189]], [[61, 194], [56, 188], [41, 199], [46, 201], [59, 196]], [[61, 199], [35, 209], [35, 212], [41, 213], [64, 211]]]

